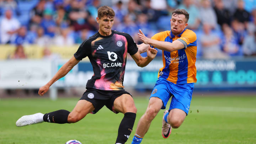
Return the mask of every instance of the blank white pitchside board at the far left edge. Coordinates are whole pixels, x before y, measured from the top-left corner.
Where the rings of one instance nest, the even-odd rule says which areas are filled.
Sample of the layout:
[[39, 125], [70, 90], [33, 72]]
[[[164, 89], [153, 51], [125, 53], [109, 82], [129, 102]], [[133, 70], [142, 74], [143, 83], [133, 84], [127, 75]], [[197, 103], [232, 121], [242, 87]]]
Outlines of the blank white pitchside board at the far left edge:
[[0, 88], [38, 89], [52, 78], [49, 60], [0, 61]]

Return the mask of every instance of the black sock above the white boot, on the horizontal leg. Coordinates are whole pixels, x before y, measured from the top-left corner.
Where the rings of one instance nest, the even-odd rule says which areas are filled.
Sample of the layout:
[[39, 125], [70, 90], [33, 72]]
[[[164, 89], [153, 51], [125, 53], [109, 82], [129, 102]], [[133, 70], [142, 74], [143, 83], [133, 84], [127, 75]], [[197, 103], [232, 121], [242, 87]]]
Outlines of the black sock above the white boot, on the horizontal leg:
[[45, 122], [50, 122], [50, 123], [68, 123], [68, 115], [69, 111], [67, 110], [58, 110], [50, 113], [46, 113], [43, 116], [43, 120]]

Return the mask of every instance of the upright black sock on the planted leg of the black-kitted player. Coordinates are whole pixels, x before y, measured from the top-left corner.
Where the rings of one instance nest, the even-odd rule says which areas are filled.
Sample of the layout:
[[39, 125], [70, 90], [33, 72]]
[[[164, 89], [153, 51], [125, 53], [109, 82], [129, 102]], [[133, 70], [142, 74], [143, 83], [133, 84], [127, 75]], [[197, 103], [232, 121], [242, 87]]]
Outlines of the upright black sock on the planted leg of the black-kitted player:
[[122, 119], [119, 128], [116, 143], [124, 144], [130, 134], [132, 133], [132, 128], [135, 122], [136, 113], [127, 112], [124, 113], [124, 118]]

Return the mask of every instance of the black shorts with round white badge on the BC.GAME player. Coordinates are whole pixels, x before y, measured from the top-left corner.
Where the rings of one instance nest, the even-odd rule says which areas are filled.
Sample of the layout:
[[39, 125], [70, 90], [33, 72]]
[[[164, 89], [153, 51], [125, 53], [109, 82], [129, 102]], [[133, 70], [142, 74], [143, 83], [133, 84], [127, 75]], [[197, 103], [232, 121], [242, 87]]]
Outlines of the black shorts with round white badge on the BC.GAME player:
[[97, 89], [87, 89], [80, 98], [80, 100], [89, 101], [92, 103], [92, 105], [94, 105], [95, 110], [91, 112], [92, 114], [97, 113], [103, 106], [106, 106], [114, 113], [118, 113], [114, 111], [114, 100], [116, 100], [117, 97], [123, 94], [131, 95], [129, 92], [125, 90], [106, 91]]

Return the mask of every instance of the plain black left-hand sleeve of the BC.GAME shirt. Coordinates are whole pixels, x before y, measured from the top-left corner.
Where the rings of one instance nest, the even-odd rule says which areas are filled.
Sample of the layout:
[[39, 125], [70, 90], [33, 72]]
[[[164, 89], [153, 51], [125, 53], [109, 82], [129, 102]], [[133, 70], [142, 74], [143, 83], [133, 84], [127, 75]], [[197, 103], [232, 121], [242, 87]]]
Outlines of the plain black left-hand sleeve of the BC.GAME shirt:
[[91, 41], [86, 39], [84, 42], [81, 43], [78, 50], [74, 54], [74, 57], [77, 60], [82, 60], [83, 58], [87, 57], [89, 54], [91, 54]]

